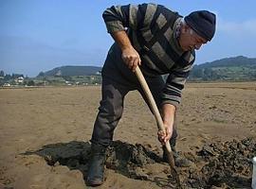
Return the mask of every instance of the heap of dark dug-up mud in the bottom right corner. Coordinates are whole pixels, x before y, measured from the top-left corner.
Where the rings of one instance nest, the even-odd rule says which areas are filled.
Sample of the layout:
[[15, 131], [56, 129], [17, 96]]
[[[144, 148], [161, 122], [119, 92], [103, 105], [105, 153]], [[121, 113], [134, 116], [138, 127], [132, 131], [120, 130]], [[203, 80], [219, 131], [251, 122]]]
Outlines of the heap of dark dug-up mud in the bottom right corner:
[[200, 170], [199, 185], [250, 188], [251, 159], [256, 155], [256, 142], [252, 139], [204, 146], [197, 155], [206, 163]]

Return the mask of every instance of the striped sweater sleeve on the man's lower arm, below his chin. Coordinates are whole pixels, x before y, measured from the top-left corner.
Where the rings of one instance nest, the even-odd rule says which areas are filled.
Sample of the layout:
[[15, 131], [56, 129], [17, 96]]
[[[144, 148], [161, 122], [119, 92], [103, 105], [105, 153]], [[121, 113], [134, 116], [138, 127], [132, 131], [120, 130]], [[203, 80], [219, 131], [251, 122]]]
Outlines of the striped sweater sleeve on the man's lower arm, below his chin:
[[162, 93], [162, 105], [173, 104], [175, 107], [179, 105], [181, 101], [181, 92], [192, 70], [194, 58], [195, 54], [193, 52], [190, 55], [190, 62], [187, 65], [175, 66], [169, 77], [167, 77], [165, 88]]

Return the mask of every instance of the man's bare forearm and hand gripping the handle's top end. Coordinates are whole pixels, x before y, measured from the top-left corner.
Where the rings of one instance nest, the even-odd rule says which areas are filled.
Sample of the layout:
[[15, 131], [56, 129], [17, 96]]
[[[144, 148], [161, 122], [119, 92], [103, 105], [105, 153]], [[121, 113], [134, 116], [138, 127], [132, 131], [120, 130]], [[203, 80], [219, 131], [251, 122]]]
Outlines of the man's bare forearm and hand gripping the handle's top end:
[[136, 49], [133, 47], [132, 43], [130, 42], [130, 39], [128, 38], [125, 31], [117, 31], [111, 34], [113, 39], [116, 41], [116, 43], [119, 44], [119, 47], [121, 49], [121, 58], [125, 62], [125, 64], [133, 71], [135, 72], [138, 65], [140, 65], [140, 58], [136, 51]]

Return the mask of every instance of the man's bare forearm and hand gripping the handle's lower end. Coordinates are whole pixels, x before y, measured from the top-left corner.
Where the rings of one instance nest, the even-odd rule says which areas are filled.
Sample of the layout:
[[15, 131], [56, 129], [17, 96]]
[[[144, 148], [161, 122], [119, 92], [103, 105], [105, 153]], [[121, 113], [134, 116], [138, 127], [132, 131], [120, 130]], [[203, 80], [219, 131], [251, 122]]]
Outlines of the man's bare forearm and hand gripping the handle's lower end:
[[175, 107], [171, 104], [164, 104], [162, 107], [162, 117], [165, 130], [159, 130], [158, 140], [162, 145], [165, 145], [173, 135], [174, 130], [174, 113]]

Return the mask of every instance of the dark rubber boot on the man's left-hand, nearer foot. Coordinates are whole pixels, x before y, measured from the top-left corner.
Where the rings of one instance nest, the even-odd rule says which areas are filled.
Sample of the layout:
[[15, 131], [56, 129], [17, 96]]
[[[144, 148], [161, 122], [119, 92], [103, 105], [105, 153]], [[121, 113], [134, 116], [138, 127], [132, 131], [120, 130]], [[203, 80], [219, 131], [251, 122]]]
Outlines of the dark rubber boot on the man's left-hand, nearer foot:
[[106, 146], [92, 144], [87, 173], [87, 185], [98, 186], [104, 182], [104, 163]]

